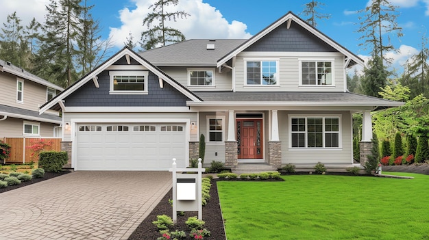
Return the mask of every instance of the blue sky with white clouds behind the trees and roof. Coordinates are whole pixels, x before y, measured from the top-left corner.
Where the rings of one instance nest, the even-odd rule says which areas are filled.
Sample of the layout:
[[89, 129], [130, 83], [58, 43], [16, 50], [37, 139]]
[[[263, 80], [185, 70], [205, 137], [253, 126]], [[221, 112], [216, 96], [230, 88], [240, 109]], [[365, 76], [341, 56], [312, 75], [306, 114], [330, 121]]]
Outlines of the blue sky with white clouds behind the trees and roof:
[[[256, 0], [180, 0], [177, 9], [185, 10], [191, 16], [171, 23], [180, 29], [187, 39], [191, 38], [249, 38], [278, 18], [292, 11], [299, 14], [310, 0], [256, 1]], [[365, 8], [370, 0], [338, 1], [319, 0], [326, 5], [321, 12], [331, 18], [318, 21], [317, 28], [347, 49], [367, 59], [369, 51], [358, 46], [360, 34], [357, 10]], [[140, 40], [144, 30], [142, 22], [148, 7], [154, 0], [88, 0], [95, 5], [93, 15], [103, 27], [103, 38], [112, 38], [115, 48], [121, 49], [128, 33]], [[391, 38], [400, 53], [389, 53], [394, 59], [394, 68], [401, 68], [408, 56], [421, 49], [421, 36], [426, 34], [429, 23], [429, 0], [391, 0], [398, 5], [400, 16], [397, 23], [403, 28], [404, 36]], [[8, 14], [16, 11], [27, 24], [32, 16], [44, 21], [45, 5], [49, 0], [0, 0], [0, 21], [5, 22]], [[304, 16], [302, 16], [304, 18]], [[137, 48], [136, 50], [138, 50]]]

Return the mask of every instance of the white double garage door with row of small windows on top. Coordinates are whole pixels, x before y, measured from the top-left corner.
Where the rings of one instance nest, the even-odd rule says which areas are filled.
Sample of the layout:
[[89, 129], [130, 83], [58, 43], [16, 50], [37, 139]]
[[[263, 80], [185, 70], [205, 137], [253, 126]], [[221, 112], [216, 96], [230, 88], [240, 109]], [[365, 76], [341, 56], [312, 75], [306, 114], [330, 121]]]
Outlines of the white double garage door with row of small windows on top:
[[78, 124], [76, 170], [185, 168], [185, 126], [175, 123]]

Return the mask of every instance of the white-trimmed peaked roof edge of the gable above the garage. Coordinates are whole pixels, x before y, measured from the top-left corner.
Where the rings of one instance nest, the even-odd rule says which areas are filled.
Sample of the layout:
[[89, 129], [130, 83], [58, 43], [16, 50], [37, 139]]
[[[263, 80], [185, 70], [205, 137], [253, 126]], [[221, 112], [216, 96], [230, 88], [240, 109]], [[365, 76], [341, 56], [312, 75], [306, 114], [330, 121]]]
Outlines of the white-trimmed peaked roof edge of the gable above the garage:
[[52, 98], [50, 101], [48, 101], [47, 103], [42, 105], [39, 109], [39, 114], [42, 114], [43, 112], [47, 111], [48, 109], [51, 109], [51, 108], [55, 107], [56, 105], [58, 105], [58, 102], [64, 100], [64, 98], [66, 98], [67, 96], [69, 96], [70, 94], [75, 92], [77, 89], [81, 88], [88, 81], [93, 81], [93, 77], [97, 77], [97, 75], [99, 75], [101, 72], [103, 72], [103, 70], [106, 70], [106, 68], [108, 68], [109, 66], [111, 66], [112, 64], [117, 62], [119, 59], [121, 59], [125, 55], [129, 55], [134, 60], [136, 60], [136, 62], [138, 62], [142, 66], [145, 66], [145, 68], [147, 68], [151, 72], [154, 72], [154, 74], [157, 75], [160, 79], [169, 83], [169, 85], [171, 85], [177, 91], [184, 94], [184, 96], [191, 99], [191, 101], [197, 101], [197, 102], [201, 101], [201, 98], [199, 98], [199, 96], [197, 96], [196, 94], [194, 94], [193, 92], [191, 92], [187, 88], [184, 88], [183, 85], [181, 85], [180, 83], [178, 83], [177, 81], [175, 81], [174, 79], [169, 77], [167, 74], [162, 72], [162, 70], [160, 70], [159, 68], [157, 68], [156, 66], [154, 66], [153, 64], [148, 62], [146, 59], [144, 59], [143, 57], [138, 55], [136, 52], [132, 51], [127, 46], [125, 46], [123, 49], [121, 49], [121, 51], [117, 52], [112, 57], [107, 59], [106, 62], [103, 62], [103, 64], [97, 66], [97, 68], [95, 68], [91, 72], [88, 72], [88, 74], [86, 74], [84, 77], [82, 77], [81, 79], [79, 79], [78, 81], [76, 81], [75, 83], [70, 85], [69, 88], [66, 88], [60, 94], [58, 94], [57, 96]]

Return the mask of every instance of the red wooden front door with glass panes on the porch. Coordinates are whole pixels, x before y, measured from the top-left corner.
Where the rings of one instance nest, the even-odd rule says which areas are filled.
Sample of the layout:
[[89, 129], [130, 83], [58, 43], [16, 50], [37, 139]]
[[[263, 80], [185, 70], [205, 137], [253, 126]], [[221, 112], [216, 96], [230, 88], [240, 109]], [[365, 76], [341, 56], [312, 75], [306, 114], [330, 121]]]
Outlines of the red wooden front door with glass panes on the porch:
[[262, 119], [238, 119], [238, 159], [262, 159]]

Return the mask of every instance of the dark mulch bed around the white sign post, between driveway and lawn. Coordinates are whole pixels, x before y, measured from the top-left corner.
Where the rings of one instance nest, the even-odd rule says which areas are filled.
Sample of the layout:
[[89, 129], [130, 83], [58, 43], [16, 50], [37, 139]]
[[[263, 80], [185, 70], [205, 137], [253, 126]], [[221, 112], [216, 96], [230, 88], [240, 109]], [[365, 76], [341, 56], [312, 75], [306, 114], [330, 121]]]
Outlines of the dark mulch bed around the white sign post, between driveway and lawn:
[[[212, 180], [212, 187], [210, 187], [210, 200], [208, 200], [206, 206], [203, 206], [203, 221], [204, 228], [210, 231], [210, 237], [204, 237], [208, 240], [226, 240], [225, 228], [223, 228], [223, 220], [221, 213], [221, 206], [219, 204], [219, 196], [217, 195], [216, 180]], [[173, 217], [173, 208], [169, 204], [169, 199], [172, 199], [173, 191], [170, 190], [161, 202], [156, 205], [155, 209], [147, 216], [143, 222], [134, 230], [128, 240], [154, 240], [161, 237], [158, 232], [158, 228], [152, 222], [156, 221], [157, 215], [169, 215]], [[184, 230], [186, 234], [189, 234], [188, 227], [185, 221], [188, 217], [198, 216], [198, 212], [185, 212], [184, 216], [177, 216], [177, 224], [171, 228], [171, 231]], [[188, 237], [188, 239], [191, 239]]]

